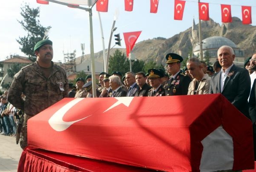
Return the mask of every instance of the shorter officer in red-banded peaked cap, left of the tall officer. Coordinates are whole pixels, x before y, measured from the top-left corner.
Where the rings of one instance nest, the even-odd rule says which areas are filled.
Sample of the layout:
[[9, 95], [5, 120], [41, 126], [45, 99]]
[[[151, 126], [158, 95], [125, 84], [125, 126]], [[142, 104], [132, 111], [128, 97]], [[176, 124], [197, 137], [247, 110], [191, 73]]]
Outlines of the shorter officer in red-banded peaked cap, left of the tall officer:
[[165, 91], [161, 83], [163, 73], [157, 69], [148, 69], [149, 84], [152, 87], [148, 91], [148, 96], [165, 96]]

